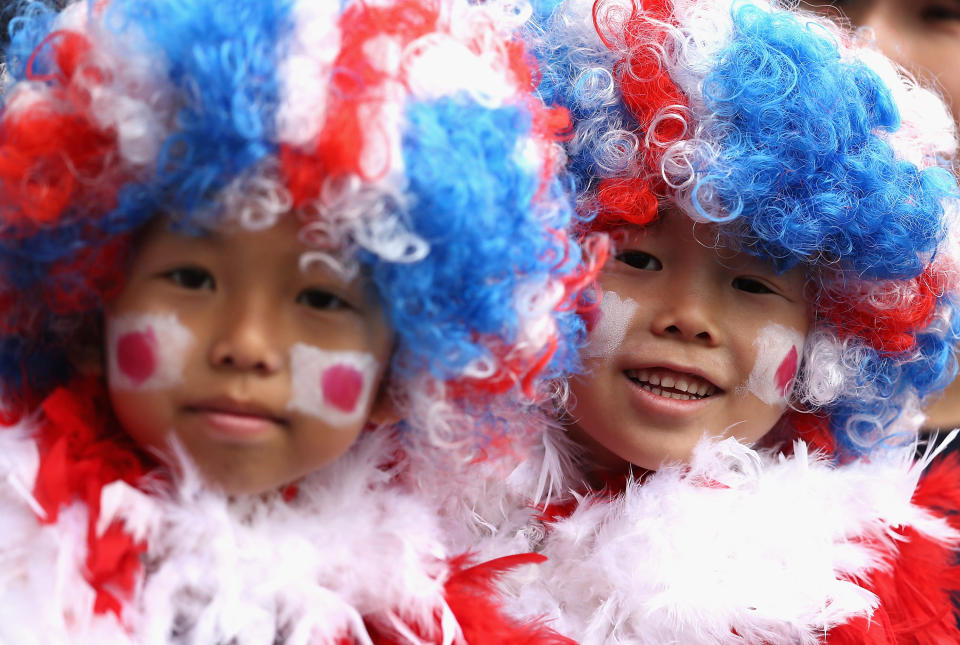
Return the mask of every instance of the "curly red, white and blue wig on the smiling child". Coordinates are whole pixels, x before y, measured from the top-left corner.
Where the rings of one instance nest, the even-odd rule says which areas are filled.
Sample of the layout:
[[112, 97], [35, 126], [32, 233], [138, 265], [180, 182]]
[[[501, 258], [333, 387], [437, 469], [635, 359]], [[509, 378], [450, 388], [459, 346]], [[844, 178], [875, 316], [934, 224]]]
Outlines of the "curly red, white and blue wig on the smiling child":
[[854, 34], [764, 0], [534, 13], [541, 92], [574, 118], [591, 226], [643, 226], [670, 203], [804, 267], [814, 324], [798, 407], [850, 456], [912, 436], [918, 401], [956, 372], [960, 332], [957, 141], [937, 96]]

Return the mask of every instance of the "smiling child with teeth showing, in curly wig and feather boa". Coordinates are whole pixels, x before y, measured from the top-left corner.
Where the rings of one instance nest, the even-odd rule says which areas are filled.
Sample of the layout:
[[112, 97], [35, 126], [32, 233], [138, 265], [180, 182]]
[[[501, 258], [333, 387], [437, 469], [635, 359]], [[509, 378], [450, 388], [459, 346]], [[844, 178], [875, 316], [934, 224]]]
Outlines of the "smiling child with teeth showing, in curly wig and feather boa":
[[537, 13], [614, 249], [561, 419], [576, 494], [502, 531], [548, 556], [517, 611], [583, 643], [960, 642], [957, 467], [912, 459], [955, 370], [949, 113], [761, 1]]

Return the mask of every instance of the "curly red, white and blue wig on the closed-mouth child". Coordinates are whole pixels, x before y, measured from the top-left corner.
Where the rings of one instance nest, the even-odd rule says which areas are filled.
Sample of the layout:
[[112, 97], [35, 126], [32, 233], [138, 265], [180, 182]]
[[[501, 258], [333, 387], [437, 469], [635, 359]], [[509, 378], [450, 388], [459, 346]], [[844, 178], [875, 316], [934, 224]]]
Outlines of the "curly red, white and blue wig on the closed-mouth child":
[[[523, 16], [447, 0], [23, 2], [0, 108], [0, 383], [70, 376], [157, 214], [187, 233], [292, 213], [362, 271], [391, 373], [522, 390], [577, 363], [589, 255]], [[251, 267], [251, 270], [256, 270]]]

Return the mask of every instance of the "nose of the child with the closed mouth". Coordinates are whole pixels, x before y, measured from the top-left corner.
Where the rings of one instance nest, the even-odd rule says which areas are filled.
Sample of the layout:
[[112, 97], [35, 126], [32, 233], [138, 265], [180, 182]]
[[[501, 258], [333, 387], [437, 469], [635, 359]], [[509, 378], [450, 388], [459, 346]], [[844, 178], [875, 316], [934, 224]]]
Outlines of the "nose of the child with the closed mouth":
[[273, 374], [283, 365], [275, 337], [277, 326], [269, 309], [242, 302], [223, 310], [223, 320], [210, 345], [210, 363], [218, 369]]

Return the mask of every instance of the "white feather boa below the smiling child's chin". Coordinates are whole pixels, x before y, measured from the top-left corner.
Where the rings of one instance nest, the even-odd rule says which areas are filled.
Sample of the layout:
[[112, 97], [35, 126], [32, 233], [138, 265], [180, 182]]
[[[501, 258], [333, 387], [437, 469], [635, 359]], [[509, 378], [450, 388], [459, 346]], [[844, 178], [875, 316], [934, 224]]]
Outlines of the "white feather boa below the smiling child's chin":
[[584, 645], [820, 643], [872, 614], [877, 598], [854, 580], [891, 566], [904, 527], [960, 538], [911, 503], [912, 457], [837, 467], [803, 443], [783, 457], [701, 442], [689, 468], [583, 499], [550, 525], [532, 545], [548, 562], [507, 581], [513, 607]]

